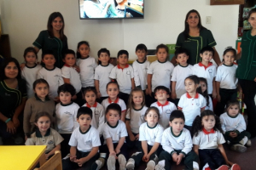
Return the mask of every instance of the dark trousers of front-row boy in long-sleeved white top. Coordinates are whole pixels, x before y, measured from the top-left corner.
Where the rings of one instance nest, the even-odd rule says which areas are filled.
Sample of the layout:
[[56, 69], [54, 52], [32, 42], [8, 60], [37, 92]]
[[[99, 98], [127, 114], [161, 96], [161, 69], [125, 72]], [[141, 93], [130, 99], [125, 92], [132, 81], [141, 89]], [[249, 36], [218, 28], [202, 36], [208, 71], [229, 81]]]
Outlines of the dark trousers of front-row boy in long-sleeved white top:
[[[175, 150], [177, 155], [181, 152], [181, 150]], [[159, 161], [165, 160], [165, 169], [171, 169], [172, 163], [176, 163], [172, 161], [172, 155], [165, 150], [160, 153]], [[193, 161], [198, 162], [198, 156], [195, 154], [193, 150], [189, 151], [189, 153], [183, 157], [181, 161], [185, 166], [186, 169], [193, 170]]]

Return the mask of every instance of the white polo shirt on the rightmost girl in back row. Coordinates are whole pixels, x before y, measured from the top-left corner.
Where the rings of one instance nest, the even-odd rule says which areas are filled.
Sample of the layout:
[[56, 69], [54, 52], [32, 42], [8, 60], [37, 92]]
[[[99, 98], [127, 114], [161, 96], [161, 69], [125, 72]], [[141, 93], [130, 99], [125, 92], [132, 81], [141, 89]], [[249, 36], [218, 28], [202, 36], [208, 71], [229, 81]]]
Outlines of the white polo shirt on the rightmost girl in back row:
[[218, 66], [216, 82], [220, 82], [219, 88], [236, 89], [238, 78], [236, 78], [237, 65], [220, 65]]

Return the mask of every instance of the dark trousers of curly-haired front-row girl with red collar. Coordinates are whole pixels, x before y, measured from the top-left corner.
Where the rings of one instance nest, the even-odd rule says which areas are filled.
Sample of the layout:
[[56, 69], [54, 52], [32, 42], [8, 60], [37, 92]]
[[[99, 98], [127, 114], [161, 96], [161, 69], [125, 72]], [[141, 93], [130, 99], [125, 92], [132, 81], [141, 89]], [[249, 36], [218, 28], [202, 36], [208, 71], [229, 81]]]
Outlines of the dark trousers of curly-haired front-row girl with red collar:
[[201, 167], [204, 167], [207, 163], [211, 169], [217, 169], [222, 165], [226, 165], [224, 157], [218, 149], [198, 150], [198, 152]]

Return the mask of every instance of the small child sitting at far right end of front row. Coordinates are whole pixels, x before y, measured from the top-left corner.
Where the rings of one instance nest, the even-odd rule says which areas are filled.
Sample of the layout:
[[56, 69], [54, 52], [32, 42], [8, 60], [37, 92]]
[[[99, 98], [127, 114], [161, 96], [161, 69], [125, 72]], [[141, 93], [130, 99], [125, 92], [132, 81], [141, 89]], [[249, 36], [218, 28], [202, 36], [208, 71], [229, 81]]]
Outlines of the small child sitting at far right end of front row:
[[245, 152], [247, 150], [245, 145], [252, 145], [250, 140], [251, 134], [246, 131], [246, 122], [239, 113], [239, 102], [237, 100], [230, 100], [226, 110], [219, 117], [224, 131], [224, 138], [227, 144], [230, 144], [231, 150]]

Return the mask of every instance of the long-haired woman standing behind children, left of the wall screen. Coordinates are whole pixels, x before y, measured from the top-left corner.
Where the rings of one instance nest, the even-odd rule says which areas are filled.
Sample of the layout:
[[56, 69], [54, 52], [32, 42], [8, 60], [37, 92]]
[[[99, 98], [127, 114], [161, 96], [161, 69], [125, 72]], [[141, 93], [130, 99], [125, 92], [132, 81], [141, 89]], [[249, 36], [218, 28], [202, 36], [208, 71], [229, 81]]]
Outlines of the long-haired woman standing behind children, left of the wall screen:
[[55, 54], [55, 66], [63, 66], [61, 54], [67, 49], [67, 37], [64, 35], [64, 19], [61, 13], [54, 12], [49, 15], [47, 30], [41, 31], [38, 38], [33, 42], [34, 48], [38, 52], [41, 48], [44, 53], [46, 50], [53, 50]]

